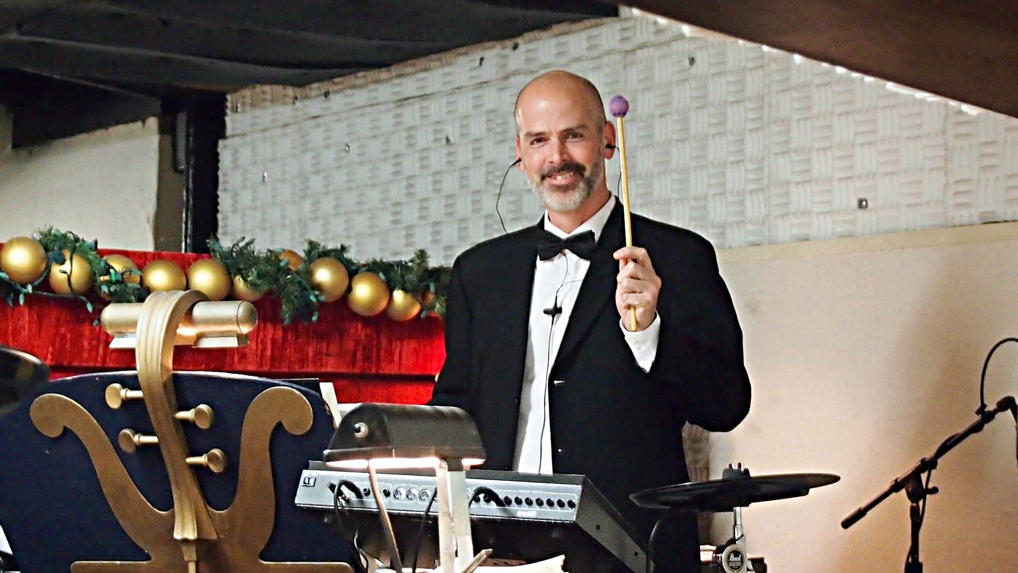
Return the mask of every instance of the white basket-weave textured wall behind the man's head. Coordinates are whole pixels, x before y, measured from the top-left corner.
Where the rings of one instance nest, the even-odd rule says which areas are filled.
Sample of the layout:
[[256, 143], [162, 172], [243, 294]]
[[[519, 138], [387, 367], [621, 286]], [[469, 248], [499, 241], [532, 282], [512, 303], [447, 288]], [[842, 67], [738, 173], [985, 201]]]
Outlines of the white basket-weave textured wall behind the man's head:
[[[232, 96], [221, 236], [343, 242], [361, 259], [425, 247], [451, 263], [501, 232], [513, 101], [554, 68], [629, 99], [634, 211], [719, 247], [1018, 219], [1018, 120], [633, 17], [297, 101]], [[608, 176], [614, 189], [617, 160]], [[510, 230], [541, 214], [515, 170], [501, 212]]]

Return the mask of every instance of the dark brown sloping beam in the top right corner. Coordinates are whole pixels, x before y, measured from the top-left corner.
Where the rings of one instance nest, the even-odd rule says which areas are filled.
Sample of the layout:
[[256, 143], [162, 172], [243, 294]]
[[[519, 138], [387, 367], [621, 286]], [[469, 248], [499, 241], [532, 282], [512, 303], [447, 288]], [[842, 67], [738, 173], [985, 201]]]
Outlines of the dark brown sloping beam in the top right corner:
[[627, 0], [625, 4], [1018, 117], [1014, 0]]

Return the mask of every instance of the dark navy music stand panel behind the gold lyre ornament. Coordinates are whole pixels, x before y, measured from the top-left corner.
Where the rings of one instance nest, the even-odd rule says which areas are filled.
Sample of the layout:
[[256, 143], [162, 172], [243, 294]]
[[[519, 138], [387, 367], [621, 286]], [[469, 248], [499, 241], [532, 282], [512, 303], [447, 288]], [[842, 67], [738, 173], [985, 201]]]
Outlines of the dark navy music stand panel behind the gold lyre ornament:
[[[230, 463], [223, 473], [199, 471], [196, 477], [210, 507], [225, 510], [237, 488], [240, 429], [248, 404], [264, 390], [285, 386], [303, 395], [315, 413], [312, 427], [301, 436], [277, 428], [269, 444], [276, 497], [273, 533], [262, 558], [275, 562], [345, 562], [356, 565], [351, 548], [319, 516], [293, 505], [300, 472], [308, 459], [321, 455], [333, 433], [332, 419], [322, 398], [304, 388], [274, 380], [212, 373], [173, 375], [178, 403], [183, 408], [210, 404], [216, 422], [208, 431], [184, 427], [193, 451], [221, 448]], [[124, 427], [151, 433], [144, 404], [111, 409], [103, 390], [111, 384], [137, 388], [133, 370], [79, 375], [45, 385], [45, 392], [67, 396], [93, 413], [104, 433], [114, 440]], [[75, 561], [146, 561], [149, 556], [124, 532], [106, 499], [81, 442], [70, 432], [57, 439], [41, 434], [32, 423], [30, 408], [42, 391], [0, 414], [0, 523], [23, 573], [69, 571]], [[158, 449], [133, 454], [117, 450], [142, 494], [159, 510], [173, 507], [165, 465]]]

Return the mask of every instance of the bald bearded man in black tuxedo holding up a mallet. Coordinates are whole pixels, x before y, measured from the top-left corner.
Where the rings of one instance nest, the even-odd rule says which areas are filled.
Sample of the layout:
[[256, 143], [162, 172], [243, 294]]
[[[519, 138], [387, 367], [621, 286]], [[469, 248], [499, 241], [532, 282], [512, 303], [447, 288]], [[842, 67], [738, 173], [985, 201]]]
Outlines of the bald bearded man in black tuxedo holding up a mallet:
[[[456, 259], [431, 403], [470, 413], [485, 468], [585, 474], [645, 542], [657, 515], [629, 495], [689, 480], [683, 424], [727, 432], [749, 410], [738, 319], [699, 235], [633, 214], [625, 246], [605, 181], [615, 126], [592, 83], [545, 73], [515, 120], [546, 213]], [[654, 555], [659, 572], [698, 571], [694, 516], [671, 520]]]

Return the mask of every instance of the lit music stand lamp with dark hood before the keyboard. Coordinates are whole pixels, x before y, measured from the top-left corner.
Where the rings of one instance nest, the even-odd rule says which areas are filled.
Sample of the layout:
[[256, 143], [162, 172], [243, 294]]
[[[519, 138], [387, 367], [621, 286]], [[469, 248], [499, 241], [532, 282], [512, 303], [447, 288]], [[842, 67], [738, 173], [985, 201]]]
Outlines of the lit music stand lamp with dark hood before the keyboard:
[[367, 469], [396, 571], [402, 571], [402, 561], [379, 492], [378, 469], [435, 468], [443, 573], [471, 571], [491, 553], [473, 554], [465, 470], [485, 461], [485, 448], [473, 419], [460, 408], [360, 404], [343, 416], [323, 456], [330, 467]]

